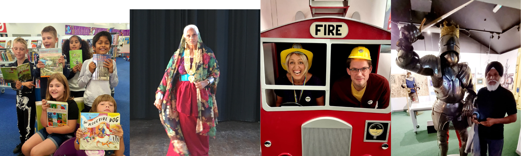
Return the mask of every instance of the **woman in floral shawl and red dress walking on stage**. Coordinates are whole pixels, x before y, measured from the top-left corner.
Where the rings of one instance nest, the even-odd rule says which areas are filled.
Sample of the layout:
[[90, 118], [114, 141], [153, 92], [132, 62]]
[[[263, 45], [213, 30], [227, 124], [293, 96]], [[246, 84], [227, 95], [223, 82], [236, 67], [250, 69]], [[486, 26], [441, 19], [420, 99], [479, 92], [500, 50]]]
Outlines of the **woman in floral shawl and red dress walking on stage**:
[[219, 66], [195, 25], [187, 25], [168, 63], [154, 105], [170, 137], [167, 155], [208, 155], [215, 138]]

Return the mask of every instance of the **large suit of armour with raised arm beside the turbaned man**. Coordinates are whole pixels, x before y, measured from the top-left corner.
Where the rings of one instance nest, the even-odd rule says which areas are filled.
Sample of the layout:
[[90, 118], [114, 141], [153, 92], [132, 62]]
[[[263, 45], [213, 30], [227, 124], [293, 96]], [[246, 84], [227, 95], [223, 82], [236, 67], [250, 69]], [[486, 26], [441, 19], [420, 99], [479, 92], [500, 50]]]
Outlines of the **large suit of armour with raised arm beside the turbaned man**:
[[[460, 137], [460, 155], [465, 153], [467, 127], [472, 116], [476, 90], [472, 83], [472, 72], [466, 62], [460, 60], [459, 27], [454, 23], [443, 22], [440, 27], [440, 55], [426, 55], [419, 58], [412, 44], [423, 40], [424, 36], [413, 24], [400, 29], [400, 39], [396, 42], [398, 67], [412, 72], [431, 76], [436, 101], [432, 105], [432, 122], [438, 131], [438, 145], [441, 155], [448, 151], [449, 127]], [[466, 97], [465, 97], [466, 96]], [[464, 99], [465, 97], [465, 99]]]

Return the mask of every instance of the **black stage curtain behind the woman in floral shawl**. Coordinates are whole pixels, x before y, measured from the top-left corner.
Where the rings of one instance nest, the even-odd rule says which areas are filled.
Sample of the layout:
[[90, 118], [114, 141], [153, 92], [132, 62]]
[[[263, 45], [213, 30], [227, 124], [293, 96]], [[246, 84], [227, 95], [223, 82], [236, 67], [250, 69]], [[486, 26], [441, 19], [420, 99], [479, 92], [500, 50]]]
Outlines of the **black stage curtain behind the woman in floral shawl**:
[[130, 24], [131, 120], [159, 119], [155, 92], [189, 24], [218, 61], [218, 120], [260, 120], [260, 10], [130, 10]]

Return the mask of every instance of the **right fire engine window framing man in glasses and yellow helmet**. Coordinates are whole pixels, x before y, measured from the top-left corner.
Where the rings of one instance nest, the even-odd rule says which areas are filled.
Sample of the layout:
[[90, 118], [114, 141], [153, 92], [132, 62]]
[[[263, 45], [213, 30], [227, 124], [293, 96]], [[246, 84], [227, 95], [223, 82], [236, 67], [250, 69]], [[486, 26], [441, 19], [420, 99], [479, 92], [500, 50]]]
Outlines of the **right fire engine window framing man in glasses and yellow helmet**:
[[379, 54], [380, 45], [331, 44], [330, 106], [389, 106], [389, 83], [376, 74]]

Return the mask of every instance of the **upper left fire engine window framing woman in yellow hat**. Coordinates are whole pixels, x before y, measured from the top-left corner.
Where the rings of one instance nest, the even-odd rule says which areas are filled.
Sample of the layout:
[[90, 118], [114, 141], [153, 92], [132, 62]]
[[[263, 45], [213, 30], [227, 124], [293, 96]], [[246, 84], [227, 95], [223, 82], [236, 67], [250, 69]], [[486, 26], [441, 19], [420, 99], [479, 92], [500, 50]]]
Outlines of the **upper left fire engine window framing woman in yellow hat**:
[[[326, 44], [264, 43], [264, 72], [268, 85], [325, 86]], [[288, 62], [286, 62], [288, 61]], [[277, 84], [288, 80], [290, 84]]]

